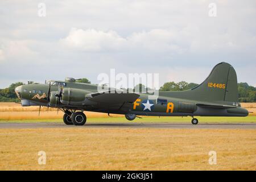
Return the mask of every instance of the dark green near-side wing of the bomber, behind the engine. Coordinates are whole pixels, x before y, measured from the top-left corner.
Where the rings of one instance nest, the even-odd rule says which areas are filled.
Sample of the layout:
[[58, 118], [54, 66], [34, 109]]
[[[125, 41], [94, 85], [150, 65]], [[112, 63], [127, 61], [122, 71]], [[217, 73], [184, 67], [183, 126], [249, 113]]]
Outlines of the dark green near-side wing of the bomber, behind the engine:
[[104, 92], [96, 92], [86, 94], [86, 98], [90, 101], [100, 102], [105, 104], [123, 104], [125, 102], [133, 103], [139, 94], [137, 93], [118, 93], [116, 90], [108, 90]]

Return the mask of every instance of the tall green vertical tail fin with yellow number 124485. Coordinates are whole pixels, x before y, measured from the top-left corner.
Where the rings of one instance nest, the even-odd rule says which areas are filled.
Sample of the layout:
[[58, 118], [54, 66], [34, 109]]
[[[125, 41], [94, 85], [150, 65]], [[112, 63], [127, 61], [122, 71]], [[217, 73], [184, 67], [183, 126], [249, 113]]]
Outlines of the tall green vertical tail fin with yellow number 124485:
[[198, 86], [180, 92], [159, 92], [160, 96], [198, 101], [238, 102], [237, 74], [232, 65], [219, 63]]

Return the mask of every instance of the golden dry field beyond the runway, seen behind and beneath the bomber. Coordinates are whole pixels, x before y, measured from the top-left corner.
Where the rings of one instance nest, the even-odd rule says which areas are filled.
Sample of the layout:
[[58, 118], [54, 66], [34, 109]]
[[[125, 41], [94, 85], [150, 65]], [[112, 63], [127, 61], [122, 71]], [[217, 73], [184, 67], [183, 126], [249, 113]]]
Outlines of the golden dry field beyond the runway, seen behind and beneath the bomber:
[[[242, 103], [242, 107], [246, 107], [247, 110], [253, 111], [249, 115], [256, 116], [256, 103]], [[38, 106], [22, 107], [20, 104], [13, 102], [0, 102], [0, 120], [27, 120], [27, 119], [60, 119], [63, 117], [63, 113], [57, 109], [42, 107], [40, 116]], [[86, 112], [88, 118], [107, 118], [108, 114], [105, 113], [94, 113]], [[113, 117], [123, 117], [123, 115], [112, 114]]]

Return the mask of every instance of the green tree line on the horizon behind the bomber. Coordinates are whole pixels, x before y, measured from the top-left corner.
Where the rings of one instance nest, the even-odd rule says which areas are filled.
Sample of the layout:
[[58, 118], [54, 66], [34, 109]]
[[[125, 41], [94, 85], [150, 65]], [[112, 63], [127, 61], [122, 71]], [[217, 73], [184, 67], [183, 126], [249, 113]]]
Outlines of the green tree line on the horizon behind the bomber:
[[[77, 80], [77, 82], [84, 82], [90, 84], [90, 81], [87, 78], [82, 78]], [[11, 84], [8, 88], [0, 89], [0, 102], [19, 102], [16, 97], [14, 89], [16, 86], [23, 85], [23, 82], [16, 82]], [[188, 83], [185, 81], [180, 82], [166, 82], [163, 86], [160, 87], [160, 91], [181, 91], [194, 88], [199, 84]], [[138, 84], [134, 87], [133, 90], [145, 90], [147, 89], [144, 85]], [[240, 102], [256, 102], [256, 88], [254, 86], [248, 85], [246, 82], [238, 83], [238, 98]]]

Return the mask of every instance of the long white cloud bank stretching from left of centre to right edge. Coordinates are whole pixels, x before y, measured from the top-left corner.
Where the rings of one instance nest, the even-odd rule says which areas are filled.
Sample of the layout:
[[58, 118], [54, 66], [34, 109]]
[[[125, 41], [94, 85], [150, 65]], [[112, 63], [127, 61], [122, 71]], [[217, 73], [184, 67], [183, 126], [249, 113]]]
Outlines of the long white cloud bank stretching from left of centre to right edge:
[[[237, 30], [214, 34], [202, 31], [196, 26], [181, 28], [152, 29], [133, 32], [122, 37], [113, 30], [82, 30], [72, 28], [69, 34], [60, 40], [66, 47], [81, 51], [143, 51], [152, 53], [223, 53], [241, 52], [246, 45], [248, 51], [256, 47], [255, 37], [248, 34], [238, 35]], [[203, 38], [202, 38], [203, 37]]]

